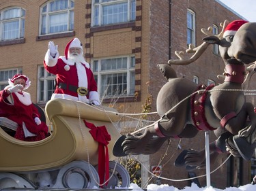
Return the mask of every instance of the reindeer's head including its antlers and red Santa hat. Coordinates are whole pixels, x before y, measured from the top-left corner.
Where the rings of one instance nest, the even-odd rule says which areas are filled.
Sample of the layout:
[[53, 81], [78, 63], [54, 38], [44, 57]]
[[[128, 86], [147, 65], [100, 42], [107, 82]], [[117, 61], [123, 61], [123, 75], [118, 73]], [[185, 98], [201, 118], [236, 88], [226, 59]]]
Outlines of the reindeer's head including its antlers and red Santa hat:
[[[236, 31], [227, 33], [229, 26], [232, 26], [234, 23]], [[203, 38], [203, 44], [200, 46], [194, 48], [190, 45], [188, 47], [186, 53], [193, 53], [193, 56], [187, 59], [184, 52], [175, 51], [176, 56], [180, 59], [169, 60], [169, 65], [188, 65], [193, 63], [203, 54], [209, 44], [219, 45], [221, 57], [225, 65], [253, 63], [256, 60], [256, 23], [234, 20], [228, 24], [227, 20], [225, 20], [224, 23], [221, 23], [221, 27], [223, 29], [218, 35], [212, 35], [212, 27], [201, 29], [201, 32], [208, 36]]]

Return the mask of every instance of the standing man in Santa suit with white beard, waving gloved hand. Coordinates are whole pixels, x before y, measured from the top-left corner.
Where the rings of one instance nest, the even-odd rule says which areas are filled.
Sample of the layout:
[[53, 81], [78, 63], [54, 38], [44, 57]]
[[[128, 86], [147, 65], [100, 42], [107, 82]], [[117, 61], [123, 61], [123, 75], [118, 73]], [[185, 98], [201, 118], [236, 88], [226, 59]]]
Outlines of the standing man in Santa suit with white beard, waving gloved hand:
[[97, 84], [89, 63], [83, 57], [78, 38], [66, 46], [65, 56], [59, 56], [58, 46], [49, 41], [44, 57], [44, 68], [56, 75], [56, 88], [51, 99], [62, 98], [100, 105]]

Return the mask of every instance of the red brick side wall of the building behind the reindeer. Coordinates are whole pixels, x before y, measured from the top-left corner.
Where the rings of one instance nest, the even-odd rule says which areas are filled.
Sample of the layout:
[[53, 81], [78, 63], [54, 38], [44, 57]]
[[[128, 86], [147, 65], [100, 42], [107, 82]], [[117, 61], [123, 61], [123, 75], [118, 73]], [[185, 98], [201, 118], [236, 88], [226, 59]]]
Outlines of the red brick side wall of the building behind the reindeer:
[[[185, 51], [186, 46], [186, 13], [187, 9], [193, 10], [196, 14], [196, 43], [199, 46], [203, 41], [202, 38], [205, 37], [201, 33], [201, 28], [208, 28], [215, 24], [218, 26], [218, 31], [221, 32], [220, 23], [224, 20], [236, 20], [240, 19], [238, 16], [227, 10], [225, 7], [212, 0], [151, 0], [150, 9], [150, 93], [154, 94], [156, 99], [156, 94], [167, 81], [161, 75], [160, 71], [156, 68], [157, 64], [167, 63], [169, 58], [177, 59], [174, 52]], [[171, 4], [169, 4], [171, 3]], [[171, 5], [171, 7], [169, 7]], [[169, 15], [171, 12], [171, 16]], [[171, 25], [169, 23], [169, 18], [171, 18]], [[171, 27], [171, 33], [169, 33], [169, 26]], [[169, 42], [171, 41], [171, 44]], [[170, 45], [170, 49], [169, 49]], [[169, 54], [169, 52], [171, 54]], [[189, 55], [189, 56], [192, 56]], [[206, 84], [207, 80], [214, 80], [216, 84], [221, 83], [216, 75], [222, 74], [225, 65], [220, 56], [212, 53], [212, 46], [208, 47], [208, 50], [197, 60], [195, 63], [186, 66], [173, 66], [177, 72], [178, 77], [186, 77], [189, 80], [193, 80], [193, 75], [199, 77], [199, 84]], [[153, 102], [155, 103], [155, 102]], [[214, 141], [216, 137], [211, 132], [211, 141]], [[171, 146], [167, 155], [162, 160], [161, 164], [165, 164], [162, 176], [169, 179], [186, 179], [188, 177], [187, 172], [184, 168], [174, 167], [173, 162], [178, 154], [184, 149], [193, 148], [195, 150], [201, 150], [205, 146], [204, 133], [200, 132], [193, 139], [182, 139], [180, 145], [182, 145], [182, 150], [177, 150], [177, 143], [179, 139], [171, 139]], [[151, 164], [158, 164], [159, 160], [164, 156], [167, 150], [166, 146], [162, 147], [157, 154], [151, 156]], [[221, 164], [227, 158], [227, 154], [219, 156], [211, 167], [214, 170], [218, 165]], [[166, 162], [166, 163], [165, 163]], [[248, 164], [248, 162], [246, 162]], [[247, 165], [248, 166], [248, 165]], [[248, 181], [248, 168], [244, 165], [244, 176], [247, 177], [245, 181]], [[195, 171], [197, 175], [205, 174], [205, 170]], [[218, 169], [216, 173], [211, 175], [212, 186], [216, 188], [225, 188], [227, 185], [227, 164], [224, 164], [221, 169]], [[205, 177], [199, 178], [202, 186], [205, 186]], [[177, 188], [184, 188], [188, 185], [188, 181], [166, 181], [161, 180], [162, 184], [169, 184]], [[248, 182], [244, 182], [246, 184]]]

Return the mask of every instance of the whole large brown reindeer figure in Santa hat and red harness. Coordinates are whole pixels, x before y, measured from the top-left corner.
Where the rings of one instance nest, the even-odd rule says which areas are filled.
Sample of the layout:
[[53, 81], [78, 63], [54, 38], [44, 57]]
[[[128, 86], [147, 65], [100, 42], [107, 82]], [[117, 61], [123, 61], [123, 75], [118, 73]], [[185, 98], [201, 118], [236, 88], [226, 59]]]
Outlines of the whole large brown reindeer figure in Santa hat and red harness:
[[[120, 137], [114, 146], [115, 156], [153, 154], [167, 139], [192, 138], [198, 131], [214, 131], [218, 139], [210, 144], [212, 156], [216, 157], [216, 153], [220, 151], [226, 152], [227, 147], [227, 151], [233, 156], [251, 159], [256, 147], [256, 114], [253, 105], [245, 101], [242, 83], [246, 76], [245, 65], [256, 60], [256, 23], [235, 20], [230, 24], [238, 22], [242, 22], [242, 26], [238, 27], [236, 34], [225, 37], [223, 34], [229, 27], [227, 20], [221, 24], [223, 29], [218, 35], [210, 35], [210, 28], [201, 29], [208, 36], [203, 38], [200, 46], [189, 46], [186, 52], [193, 53], [193, 56], [184, 59], [183, 52], [175, 52], [180, 59], [158, 65], [168, 80], [156, 99], [161, 118], [145, 128], [143, 134], [132, 133], [127, 137]], [[225, 63], [223, 84], [198, 87], [186, 78], [177, 77], [171, 65], [193, 63], [210, 44], [218, 44]], [[252, 67], [250, 71], [254, 71]], [[200, 167], [203, 165], [203, 160], [199, 159], [202, 153], [187, 152], [179, 157], [187, 164]], [[179, 157], [177, 162], [180, 162]]]

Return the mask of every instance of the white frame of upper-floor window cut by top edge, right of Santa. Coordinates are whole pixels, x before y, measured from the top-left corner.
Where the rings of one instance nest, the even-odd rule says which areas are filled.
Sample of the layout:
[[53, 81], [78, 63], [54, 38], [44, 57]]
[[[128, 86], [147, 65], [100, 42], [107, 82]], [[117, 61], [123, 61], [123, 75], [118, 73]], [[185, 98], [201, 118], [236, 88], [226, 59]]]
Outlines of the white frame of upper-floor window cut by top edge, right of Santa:
[[[114, 6], [121, 4], [121, 3], [127, 3], [127, 18], [124, 18], [123, 21], [113, 21], [108, 22], [106, 24], [103, 23], [103, 7], [106, 6]], [[96, 16], [97, 14], [97, 16]], [[113, 13], [112, 13], [113, 14]], [[111, 17], [111, 13], [110, 13]], [[114, 18], [114, 16], [113, 16]], [[120, 16], [117, 16], [115, 18], [121, 18]], [[107, 24], [117, 24], [122, 22], [130, 22], [132, 20], [135, 20], [136, 18], [136, 0], [93, 0], [92, 1], [92, 10], [91, 10], [91, 27], [99, 27], [104, 26]]]

